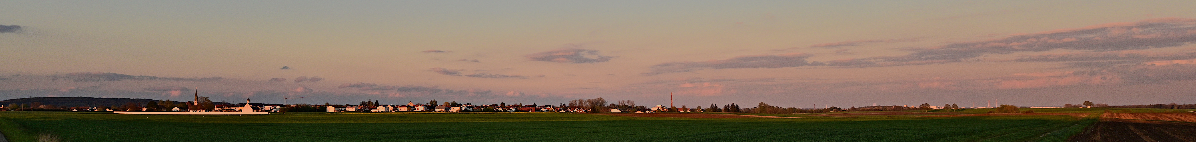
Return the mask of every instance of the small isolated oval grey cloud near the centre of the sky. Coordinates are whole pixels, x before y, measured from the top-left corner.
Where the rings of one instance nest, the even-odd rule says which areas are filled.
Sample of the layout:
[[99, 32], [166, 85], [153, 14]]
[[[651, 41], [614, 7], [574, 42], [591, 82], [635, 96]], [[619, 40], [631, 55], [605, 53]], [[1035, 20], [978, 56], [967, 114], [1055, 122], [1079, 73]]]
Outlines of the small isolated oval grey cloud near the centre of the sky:
[[[586, 57], [593, 56], [593, 57]], [[598, 50], [579, 49], [579, 48], [561, 48], [549, 51], [542, 51], [536, 54], [524, 55], [531, 61], [547, 61], [547, 62], [559, 62], [559, 63], [597, 63], [606, 62], [612, 58], [612, 56], [598, 55]]]

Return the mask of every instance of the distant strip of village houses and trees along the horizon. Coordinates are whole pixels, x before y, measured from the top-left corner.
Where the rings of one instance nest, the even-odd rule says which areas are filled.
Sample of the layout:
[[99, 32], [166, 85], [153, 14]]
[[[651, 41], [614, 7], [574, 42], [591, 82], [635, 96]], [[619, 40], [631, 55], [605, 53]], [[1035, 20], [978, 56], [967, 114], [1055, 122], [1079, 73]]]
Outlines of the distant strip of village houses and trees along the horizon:
[[[108, 112], [138, 112], [138, 113], [171, 113], [171, 112], [238, 112], [238, 113], [252, 113], [252, 112], [614, 112], [614, 113], [655, 113], [655, 112], [749, 112], [749, 113], [818, 113], [818, 112], [837, 112], [837, 111], [907, 111], [907, 110], [958, 110], [958, 109], [997, 109], [995, 112], [1001, 112], [1001, 110], [1008, 110], [1009, 112], [1018, 111], [1019, 106], [1013, 105], [1001, 105], [996, 100], [982, 104], [982, 106], [972, 107], [960, 107], [957, 104], [945, 104], [942, 106], [933, 106], [930, 104], [922, 104], [919, 106], [910, 105], [875, 105], [875, 106], [852, 106], [852, 107], [835, 107], [828, 106], [822, 109], [797, 109], [797, 107], [781, 107], [773, 106], [769, 104], [759, 103], [755, 107], [743, 107], [738, 104], [728, 105], [716, 105], [709, 104], [709, 106], [696, 106], [689, 107], [685, 105], [677, 106], [665, 106], [665, 105], [653, 105], [651, 107], [636, 105], [633, 100], [617, 100], [606, 101], [603, 98], [594, 99], [576, 99], [569, 100], [568, 103], [560, 103], [556, 105], [537, 105], [537, 104], [489, 104], [489, 105], [474, 105], [474, 104], [459, 104], [457, 101], [439, 103], [437, 100], [431, 100], [427, 104], [408, 101], [399, 105], [382, 104], [378, 100], [366, 100], [356, 105], [344, 104], [344, 105], [332, 105], [325, 103], [324, 105], [307, 105], [307, 104], [258, 104], [250, 103], [249, 99], [245, 103], [231, 104], [231, 103], [215, 103], [207, 99], [207, 97], [195, 95], [193, 101], [172, 101], [172, 100], [152, 100], [152, 99], [129, 99], [129, 98], [90, 98], [90, 97], [48, 97], [48, 98], [23, 98], [24, 103], [0, 105], [0, 111], [74, 111], [74, 112], [89, 112], [89, 111], [108, 111]], [[19, 99], [11, 99], [4, 101], [18, 101]], [[63, 104], [63, 103], [93, 103], [103, 104], [100, 100], [108, 100], [106, 104], [123, 103], [123, 105], [92, 105], [92, 104]], [[41, 101], [49, 101], [51, 104], [42, 104]], [[60, 104], [60, 105], [54, 105]], [[69, 105], [69, 106], [68, 106]], [[672, 104], [670, 104], [672, 105]], [[997, 107], [999, 106], [999, 107]], [[1025, 106], [1021, 106], [1025, 107]], [[1035, 106], [1039, 107], [1039, 106]], [[1109, 106], [1107, 104], [1094, 104], [1091, 101], [1084, 101], [1080, 104], [1064, 104], [1063, 106], [1049, 106], [1049, 107], [1152, 107], [1152, 109], [1196, 109], [1196, 105], [1179, 105], [1179, 104], [1154, 104], [1154, 105], [1125, 105], [1125, 106]], [[178, 115], [178, 113], [176, 113]], [[219, 115], [219, 113], [213, 113]]]

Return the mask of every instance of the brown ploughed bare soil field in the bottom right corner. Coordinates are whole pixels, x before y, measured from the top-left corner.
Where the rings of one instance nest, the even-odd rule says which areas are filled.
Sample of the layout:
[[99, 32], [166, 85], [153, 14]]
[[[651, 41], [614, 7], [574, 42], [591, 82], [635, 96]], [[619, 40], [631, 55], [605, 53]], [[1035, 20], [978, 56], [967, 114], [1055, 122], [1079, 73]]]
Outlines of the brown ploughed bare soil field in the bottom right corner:
[[1102, 119], [1072, 136], [1072, 142], [1196, 142], [1196, 125], [1185, 123]]

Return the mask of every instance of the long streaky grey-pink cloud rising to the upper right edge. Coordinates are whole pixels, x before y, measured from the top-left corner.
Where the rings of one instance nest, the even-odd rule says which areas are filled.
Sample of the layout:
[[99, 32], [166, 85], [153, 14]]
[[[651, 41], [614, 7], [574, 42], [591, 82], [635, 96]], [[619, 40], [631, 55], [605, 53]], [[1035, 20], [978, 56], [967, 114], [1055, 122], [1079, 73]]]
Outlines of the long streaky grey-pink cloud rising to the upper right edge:
[[935, 48], [909, 49], [905, 56], [878, 57], [884, 61], [965, 60], [984, 54], [1046, 51], [1054, 49], [1111, 51], [1177, 47], [1196, 42], [1196, 19], [1157, 18], [1137, 23], [1111, 23], [1080, 29], [1061, 29], [1015, 35], [1001, 39], [954, 43]]

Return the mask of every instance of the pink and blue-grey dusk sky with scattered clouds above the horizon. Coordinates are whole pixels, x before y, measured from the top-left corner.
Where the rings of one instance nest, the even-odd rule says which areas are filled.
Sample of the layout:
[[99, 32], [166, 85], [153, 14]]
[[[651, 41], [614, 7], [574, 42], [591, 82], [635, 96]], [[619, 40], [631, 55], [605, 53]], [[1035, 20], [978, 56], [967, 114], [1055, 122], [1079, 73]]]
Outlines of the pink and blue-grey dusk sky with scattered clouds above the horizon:
[[1190, 0], [2, 2], [0, 100], [1196, 104]]

